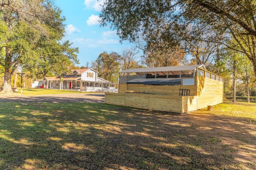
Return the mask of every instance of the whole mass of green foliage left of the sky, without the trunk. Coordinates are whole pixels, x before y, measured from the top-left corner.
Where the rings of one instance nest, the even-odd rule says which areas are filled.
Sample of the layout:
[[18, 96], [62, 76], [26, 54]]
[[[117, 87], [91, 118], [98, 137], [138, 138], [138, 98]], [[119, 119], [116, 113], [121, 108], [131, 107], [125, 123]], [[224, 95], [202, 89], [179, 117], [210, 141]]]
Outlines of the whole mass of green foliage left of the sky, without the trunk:
[[0, 64], [11, 69], [8, 72], [12, 74], [20, 64], [30, 78], [42, 78], [59, 75], [71, 64], [78, 63], [78, 48], [72, 47], [69, 41], [62, 42], [65, 18], [51, 0], [2, 3], [7, 8], [0, 11]]

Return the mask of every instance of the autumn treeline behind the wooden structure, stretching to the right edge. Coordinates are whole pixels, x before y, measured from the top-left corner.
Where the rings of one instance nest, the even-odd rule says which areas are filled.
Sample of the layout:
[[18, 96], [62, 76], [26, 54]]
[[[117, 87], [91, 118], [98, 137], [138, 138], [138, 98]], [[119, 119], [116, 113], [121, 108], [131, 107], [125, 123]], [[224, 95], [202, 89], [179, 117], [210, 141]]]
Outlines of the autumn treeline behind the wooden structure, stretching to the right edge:
[[[103, 52], [96, 61], [87, 63], [82, 68], [93, 68], [98, 70], [100, 77], [117, 82], [118, 72], [129, 68], [204, 64], [210, 72], [224, 77], [224, 95], [233, 96], [233, 102], [236, 96], [256, 96], [253, 66], [243, 53], [204, 42], [198, 43], [197, 48], [187, 52], [184, 52], [184, 47], [179, 47], [144, 53], [142, 56], [138, 55], [136, 47], [125, 49], [121, 54]], [[218, 59], [216, 48], [219, 48]]]

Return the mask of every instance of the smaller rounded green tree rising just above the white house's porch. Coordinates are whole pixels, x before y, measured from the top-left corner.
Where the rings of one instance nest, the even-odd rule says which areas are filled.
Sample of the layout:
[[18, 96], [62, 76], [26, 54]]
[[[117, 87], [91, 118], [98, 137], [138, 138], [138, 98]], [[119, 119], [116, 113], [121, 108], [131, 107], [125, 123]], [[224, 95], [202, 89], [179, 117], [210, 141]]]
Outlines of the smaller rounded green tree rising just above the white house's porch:
[[37, 51], [39, 55], [34, 55], [33, 59], [22, 64], [23, 71], [28, 72], [30, 78], [58, 76], [76, 68], [74, 64], [78, 63], [76, 55], [78, 48], [70, 47], [72, 43], [69, 41], [63, 43], [58, 41], [60, 40], [40, 42], [38, 44], [40, 50]]

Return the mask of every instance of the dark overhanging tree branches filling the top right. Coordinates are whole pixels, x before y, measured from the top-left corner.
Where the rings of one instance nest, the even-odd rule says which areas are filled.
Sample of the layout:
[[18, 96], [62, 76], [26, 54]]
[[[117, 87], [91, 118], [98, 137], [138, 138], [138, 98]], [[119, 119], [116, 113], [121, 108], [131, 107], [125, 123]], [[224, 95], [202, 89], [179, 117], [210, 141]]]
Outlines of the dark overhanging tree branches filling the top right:
[[[147, 37], [145, 48], [160, 41], [167, 41], [170, 46], [177, 45], [183, 35], [187, 37], [187, 27], [192, 24], [193, 30], [199, 35], [194, 38], [221, 42], [244, 53], [252, 62], [256, 76], [254, 3], [252, 0], [108, 0], [103, 5], [100, 18], [103, 26], [111, 23], [121, 40], [135, 42], [143, 34]], [[201, 37], [206, 26], [216, 35]], [[225, 36], [219, 41], [217, 35]], [[235, 39], [236, 46], [230, 46], [230, 35]]]

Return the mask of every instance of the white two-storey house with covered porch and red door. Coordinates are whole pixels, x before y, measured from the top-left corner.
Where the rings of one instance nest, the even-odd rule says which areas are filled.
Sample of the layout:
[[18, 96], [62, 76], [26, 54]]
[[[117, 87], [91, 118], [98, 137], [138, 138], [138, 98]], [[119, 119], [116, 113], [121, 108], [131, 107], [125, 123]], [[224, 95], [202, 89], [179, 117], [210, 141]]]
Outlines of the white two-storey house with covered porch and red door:
[[61, 76], [44, 77], [37, 88], [52, 89], [80, 89], [86, 92], [109, 89], [111, 82], [98, 77], [98, 72], [92, 68], [72, 70], [72, 74], [64, 73]]

